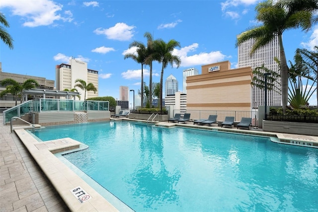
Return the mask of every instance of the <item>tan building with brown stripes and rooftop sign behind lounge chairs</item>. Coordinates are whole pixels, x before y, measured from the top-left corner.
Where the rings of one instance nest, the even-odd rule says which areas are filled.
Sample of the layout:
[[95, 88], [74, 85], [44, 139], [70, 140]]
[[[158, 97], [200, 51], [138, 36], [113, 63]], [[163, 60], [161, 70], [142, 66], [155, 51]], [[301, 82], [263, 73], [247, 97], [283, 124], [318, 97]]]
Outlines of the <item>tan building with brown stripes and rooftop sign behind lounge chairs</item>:
[[[211, 67], [219, 71], [209, 72]], [[230, 69], [229, 61], [202, 66], [202, 74], [187, 77], [187, 109], [251, 110], [250, 67]]]

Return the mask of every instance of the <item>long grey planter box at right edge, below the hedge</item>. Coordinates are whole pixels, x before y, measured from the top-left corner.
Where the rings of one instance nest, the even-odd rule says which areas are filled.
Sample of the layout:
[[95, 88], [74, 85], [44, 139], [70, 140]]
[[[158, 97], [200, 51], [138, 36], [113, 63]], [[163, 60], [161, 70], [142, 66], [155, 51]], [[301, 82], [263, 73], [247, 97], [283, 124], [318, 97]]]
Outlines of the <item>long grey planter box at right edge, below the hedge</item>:
[[318, 123], [263, 120], [263, 131], [318, 136]]

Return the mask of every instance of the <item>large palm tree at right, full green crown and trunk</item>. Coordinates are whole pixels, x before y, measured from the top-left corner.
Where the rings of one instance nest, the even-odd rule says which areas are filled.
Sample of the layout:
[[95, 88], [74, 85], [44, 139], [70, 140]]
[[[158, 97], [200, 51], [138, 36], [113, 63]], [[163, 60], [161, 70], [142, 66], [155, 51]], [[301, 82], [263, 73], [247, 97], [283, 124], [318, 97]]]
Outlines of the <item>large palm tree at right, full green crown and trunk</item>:
[[283, 112], [288, 104], [288, 66], [283, 46], [282, 34], [288, 29], [308, 30], [313, 22], [313, 13], [317, 11], [318, 0], [265, 0], [256, 5], [256, 20], [261, 25], [249, 28], [238, 36], [236, 46], [249, 39], [255, 39], [251, 54], [265, 46], [278, 36], [280, 48], [280, 70]]

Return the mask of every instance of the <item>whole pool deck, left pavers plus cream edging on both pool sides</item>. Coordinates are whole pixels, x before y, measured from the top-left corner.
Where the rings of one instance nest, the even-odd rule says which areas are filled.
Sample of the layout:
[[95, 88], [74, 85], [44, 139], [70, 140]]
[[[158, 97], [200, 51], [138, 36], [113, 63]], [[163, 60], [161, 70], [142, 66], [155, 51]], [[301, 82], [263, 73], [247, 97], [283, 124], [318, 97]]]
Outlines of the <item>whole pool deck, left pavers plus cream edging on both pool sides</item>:
[[[126, 118], [112, 119], [114, 121]], [[128, 119], [131, 121], [131, 119]], [[136, 120], [144, 122], [142, 120]], [[2, 123], [2, 116], [0, 116]], [[274, 142], [318, 147], [317, 136], [263, 132], [259, 129], [222, 128], [219, 126], [158, 122], [158, 127], [191, 127], [213, 131], [244, 133], [276, 138]], [[9, 125], [0, 127], [0, 212], [83, 212], [118, 211], [53, 153], [76, 149], [79, 142], [71, 138], [39, 143], [24, 129], [10, 132]], [[52, 153], [53, 152], [53, 153]], [[79, 189], [80, 196], [76, 197]], [[82, 193], [85, 198], [82, 199]], [[79, 200], [81, 199], [81, 200]], [[81, 202], [80, 202], [81, 201]]]

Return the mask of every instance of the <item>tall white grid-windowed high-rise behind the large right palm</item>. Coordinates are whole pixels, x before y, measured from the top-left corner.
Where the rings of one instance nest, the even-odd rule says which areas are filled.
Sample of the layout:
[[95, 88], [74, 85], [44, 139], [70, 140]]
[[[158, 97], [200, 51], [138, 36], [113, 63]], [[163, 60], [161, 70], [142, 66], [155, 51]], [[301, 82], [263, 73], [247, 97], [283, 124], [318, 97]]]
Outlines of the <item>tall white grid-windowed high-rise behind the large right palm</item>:
[[[274, 61], [275, 57], [278, 60], [280, 59], [278, 37], [275, 36], [271, 42], [260, 47], [250, 55], [254, 43], [255, 40], [250, 39], [238, 46], [239, 68], [250, 66], [253, 70], [264, 64], [267, 69], [279, 73], [278, 64]], [[274, 90], [268, 91], [268, 106], [281, 106], [281, 95], [278, 93], [281, 87], [279, 83], [275, 83], [276, 88]], [[264, 90], [253, 86], [252, 107], [258, 107], [259, 105], [264, 105]]]

